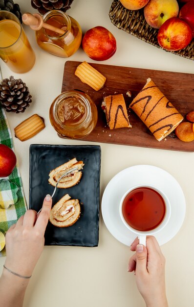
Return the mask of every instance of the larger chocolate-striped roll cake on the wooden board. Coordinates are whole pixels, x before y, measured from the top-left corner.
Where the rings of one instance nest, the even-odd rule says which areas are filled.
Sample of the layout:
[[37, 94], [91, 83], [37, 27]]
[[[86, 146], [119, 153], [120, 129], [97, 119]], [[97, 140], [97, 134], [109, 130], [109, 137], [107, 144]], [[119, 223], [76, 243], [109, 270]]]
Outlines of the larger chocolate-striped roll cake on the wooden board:
[[151, 78], [137, 94], [129, 107], [150, 129], [156, 140], [161, 141], [182, 122], [183, 116], [159, 90]]

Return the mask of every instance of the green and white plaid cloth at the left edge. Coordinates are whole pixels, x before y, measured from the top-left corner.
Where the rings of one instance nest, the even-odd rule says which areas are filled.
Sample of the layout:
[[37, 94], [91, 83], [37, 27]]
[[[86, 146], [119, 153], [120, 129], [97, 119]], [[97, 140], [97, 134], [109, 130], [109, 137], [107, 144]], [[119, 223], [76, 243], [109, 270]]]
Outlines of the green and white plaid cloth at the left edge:
[[[1, 108], [0, 143], [7, 145], [14, 150], [8, 121], [4, 110]], [[15, 224], [27, 210], [22, 187], [22, 179], [17, 165], [11, 175], [5, 179], [8, 180], [0, 179], [0, 230], [2, 230], [4, 233], [6, 233], [9, 227]], [[2, 252], [0, 252], [0, 256], [5, 255], [6, 253], [4, 249]]]

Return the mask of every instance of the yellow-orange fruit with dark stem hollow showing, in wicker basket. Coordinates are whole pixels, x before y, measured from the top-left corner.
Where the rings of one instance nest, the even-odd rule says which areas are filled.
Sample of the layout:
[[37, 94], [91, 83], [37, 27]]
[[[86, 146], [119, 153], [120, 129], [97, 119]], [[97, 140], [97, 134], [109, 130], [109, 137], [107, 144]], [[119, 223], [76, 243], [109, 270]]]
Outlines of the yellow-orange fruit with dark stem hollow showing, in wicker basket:
[[150, 26], [159, 29], [167, 19], [177, 17], [178, 10], [176, 0], [150, 0], [144, 7], [144, 17]]

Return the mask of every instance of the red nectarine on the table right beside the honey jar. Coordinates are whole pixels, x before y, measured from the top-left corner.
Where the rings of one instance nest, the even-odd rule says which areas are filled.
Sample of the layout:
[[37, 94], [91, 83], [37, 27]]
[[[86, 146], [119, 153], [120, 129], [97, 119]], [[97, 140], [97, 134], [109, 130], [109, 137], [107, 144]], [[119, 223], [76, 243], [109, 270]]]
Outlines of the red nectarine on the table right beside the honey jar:
[[82, 47], [93, 60], [104, 61], [116, 52], [116, 39], [103, 26], [95, 26], [86, 31]]

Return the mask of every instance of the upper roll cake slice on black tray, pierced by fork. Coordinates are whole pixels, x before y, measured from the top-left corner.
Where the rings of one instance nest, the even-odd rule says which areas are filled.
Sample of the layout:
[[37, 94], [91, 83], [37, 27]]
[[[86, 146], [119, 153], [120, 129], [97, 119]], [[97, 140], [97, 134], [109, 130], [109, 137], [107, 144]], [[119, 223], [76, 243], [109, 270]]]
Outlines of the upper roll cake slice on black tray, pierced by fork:
[[50, 171], [48, 182], [50, 184], [52, 184], [53, 186], [55, 186], [57, 181], [60, 179], [60, 177], [63, 174], [65, 174], [65, 172], [68, 172], [75, 167], [78, 167], [78, 170], [75, 170], [72, 173], [63, 177], [59, 181], [57, 187], [62, 188], [62, 189], [66, 189], [66, 188], [69, 188], [71, 186], [74, 186], [75, 184], [77, 184], [80, 181], [80, 179], [82, 177], [81, 170], [84, 167], [83, 161], [77, 161], [76, 158], [73, 158], [70, 161], [68, 161], [68, 162], [58, 166], [54, 170]]

